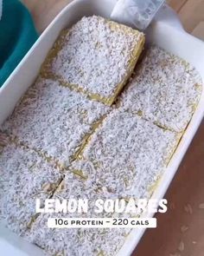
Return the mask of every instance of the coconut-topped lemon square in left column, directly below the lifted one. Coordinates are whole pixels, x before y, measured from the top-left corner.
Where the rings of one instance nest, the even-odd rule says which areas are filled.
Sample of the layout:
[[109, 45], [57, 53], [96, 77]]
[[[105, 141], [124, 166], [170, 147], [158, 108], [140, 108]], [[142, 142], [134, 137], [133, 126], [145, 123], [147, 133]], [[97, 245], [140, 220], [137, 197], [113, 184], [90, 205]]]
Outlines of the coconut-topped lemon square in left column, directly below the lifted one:
[[89, 101], [59, 82], [39, 78], [2, 130], [61, 165], [68, 165], [92, 125], [109, 107]]

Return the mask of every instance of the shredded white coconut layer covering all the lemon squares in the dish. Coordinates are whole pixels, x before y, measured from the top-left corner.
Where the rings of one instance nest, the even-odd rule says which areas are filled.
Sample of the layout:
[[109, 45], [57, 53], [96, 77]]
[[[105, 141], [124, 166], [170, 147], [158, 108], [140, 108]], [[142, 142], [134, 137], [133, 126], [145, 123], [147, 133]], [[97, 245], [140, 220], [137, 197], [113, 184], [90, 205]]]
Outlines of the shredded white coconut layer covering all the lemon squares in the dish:
[[[151, 47], [119, 97], [122, 106], [109, 108], [92, 101], [93, 95], [115, 99], [131, 75], [143, 34], [84, 17], [55, 47], [45, 68], [59, 82], [38, 78], [1, 128], [0, 220], [48, 255], [115, 255], [129, 229], [51, 229], [47, 220], [118, 217], [95, 213], [94, 201], [150, 198], [199, 101], [201, 78], [179, 57]], [[71, 172], [62, 176], [47, 156]], [[49, 197], [86, 198], [90, 209], [36, 216], [35, 199]]]

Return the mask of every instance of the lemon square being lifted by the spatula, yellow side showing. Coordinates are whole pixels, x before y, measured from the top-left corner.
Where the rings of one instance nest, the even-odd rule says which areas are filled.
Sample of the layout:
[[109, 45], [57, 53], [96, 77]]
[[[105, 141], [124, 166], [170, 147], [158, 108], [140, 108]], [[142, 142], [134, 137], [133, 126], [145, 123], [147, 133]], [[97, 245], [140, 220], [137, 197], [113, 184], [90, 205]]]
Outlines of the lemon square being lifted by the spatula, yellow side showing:
[[43, 75], [112, 105], [143, 49], [143, 33], [99, 16], [83, 17], [63, 31]]

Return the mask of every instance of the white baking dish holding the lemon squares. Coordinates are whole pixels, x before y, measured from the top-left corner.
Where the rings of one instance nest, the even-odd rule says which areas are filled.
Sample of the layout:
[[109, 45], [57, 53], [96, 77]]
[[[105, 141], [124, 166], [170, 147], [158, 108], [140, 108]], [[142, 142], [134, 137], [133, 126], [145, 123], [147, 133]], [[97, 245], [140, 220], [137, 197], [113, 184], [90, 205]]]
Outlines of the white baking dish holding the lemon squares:
[[[16, 102], [18, 102], [31, 83], [35, 81], [41, 63], [47, 56], [48, 50], [52, 47], [60, 31], [76, 23], [82, 16], [95, 14], [109, 17], [115, 3], [116, 0], [76, 0], [61, 11], [60, 15], [48, 26], [48, 29], [44, 31], [13, 74], [10, 75], [10, 78], [4, 83], [2, 89], [0, 89], [0, 123], [10, 115], [15, 108]], [[150, 43], [156, 43], [163, 49], [177, 56], [181, 56], [193, 64], [204, 80], [204, 43], [194, 38], [194, 36], [188, 35], [188, 33], [182, 30], [182, 26], [177, 22], [176, 17], [173, 18], [173, 20], [171, 17], [172, 14], [169, 15], [169, 10], [162, 11], [156, 19], [156, 22], [146, 31], [148, 41]], [[172, 24], [176, 26], [172, 27]], [[163, 174], [163, 178], [153, 194], [154, 198], [161, 199], [166, 193], [201, 123], [203, 114], [204, 92], [202, 92], [201, 101], [182, 137], [182, 141], [176, 149], [167, 171]], [[151, 214], [146, 217], [150, 216]], [[127, 237], [120, 252], [118, 252], [118, 255], [130, 255], [135, 246], [137, 246], [143, 232], [144, 230], [141, 229], [133, 230]], [[18, 238], [15, 234], [10, 233], [8, 229], [3, 227], [3, 224], [0, 224], [0, 250], [4, 256], [42, 255], [39, 248], [30, 245], [21, 238]]]

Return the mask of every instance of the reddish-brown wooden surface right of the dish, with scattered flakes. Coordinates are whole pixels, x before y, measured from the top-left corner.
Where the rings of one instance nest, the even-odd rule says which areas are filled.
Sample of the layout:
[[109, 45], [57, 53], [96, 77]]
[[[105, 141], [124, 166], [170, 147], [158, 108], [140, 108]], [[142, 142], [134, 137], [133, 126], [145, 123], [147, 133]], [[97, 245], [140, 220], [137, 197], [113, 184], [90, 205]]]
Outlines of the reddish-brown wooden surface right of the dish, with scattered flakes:
[[203, 256], [204, 121], [165, 198], [168, 212], [156, 216], [158, 227], [144, 233], [133, 255]]

